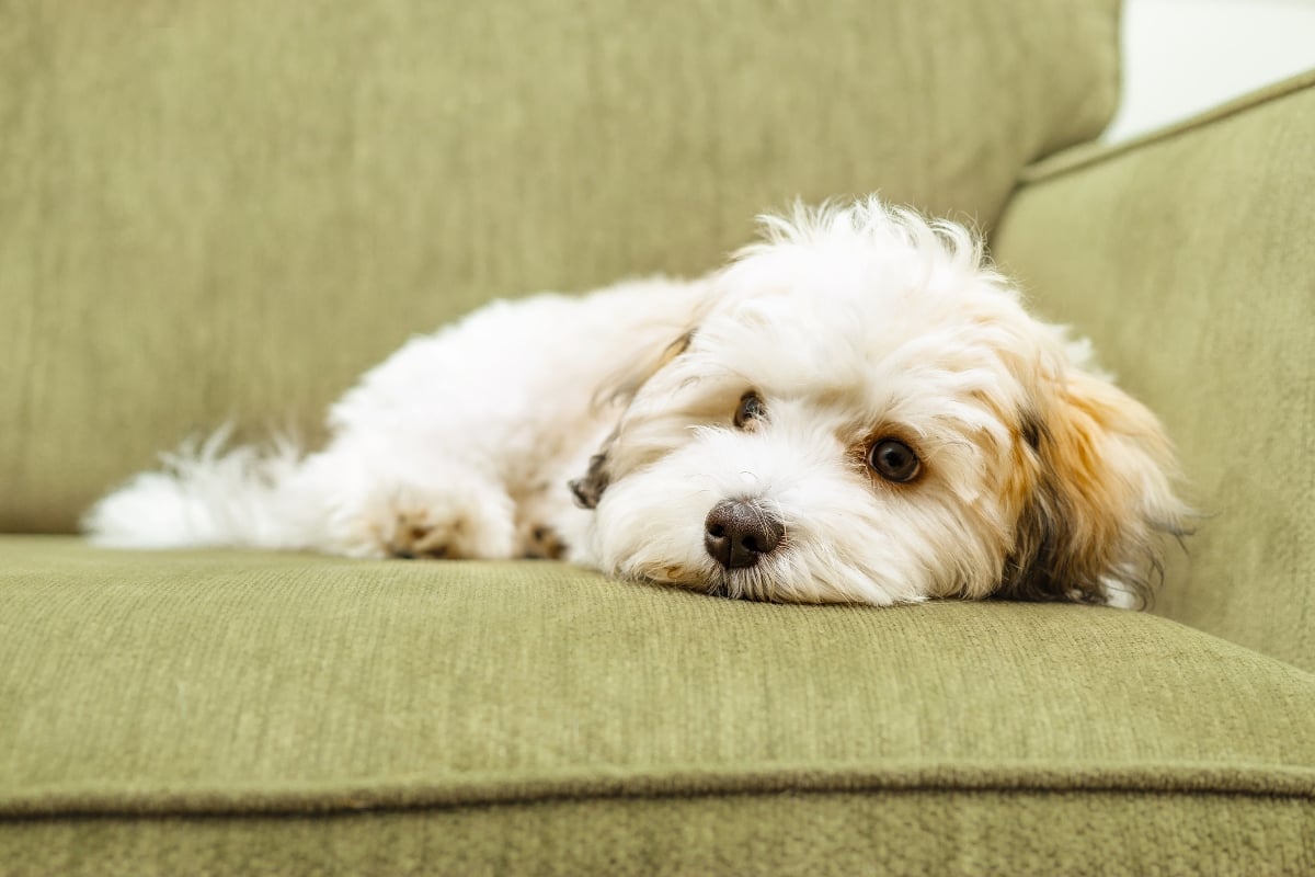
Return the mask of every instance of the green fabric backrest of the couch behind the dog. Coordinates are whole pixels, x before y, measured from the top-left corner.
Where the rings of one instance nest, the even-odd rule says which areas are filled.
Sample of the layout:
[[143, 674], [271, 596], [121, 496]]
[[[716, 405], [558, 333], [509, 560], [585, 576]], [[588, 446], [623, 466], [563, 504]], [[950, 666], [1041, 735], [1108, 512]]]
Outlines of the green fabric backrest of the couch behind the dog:
[[0, 531], [313, 430], [493, 295], [696, 273], [796, 196], [989, 225], [1114, 108], [1116, 0], [0, 4]]

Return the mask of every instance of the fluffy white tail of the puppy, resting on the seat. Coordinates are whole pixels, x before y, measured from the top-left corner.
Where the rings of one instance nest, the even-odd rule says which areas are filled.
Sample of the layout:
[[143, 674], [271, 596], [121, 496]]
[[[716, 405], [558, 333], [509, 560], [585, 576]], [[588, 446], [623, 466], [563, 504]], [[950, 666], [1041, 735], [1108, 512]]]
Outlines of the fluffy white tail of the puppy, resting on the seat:
[[288, 439], [225, 450], [230, 429], [162, 455], [85, 514], [83, 530], [114, 548], [301, 548], [306, 523], [291, 496], [304, 459]]

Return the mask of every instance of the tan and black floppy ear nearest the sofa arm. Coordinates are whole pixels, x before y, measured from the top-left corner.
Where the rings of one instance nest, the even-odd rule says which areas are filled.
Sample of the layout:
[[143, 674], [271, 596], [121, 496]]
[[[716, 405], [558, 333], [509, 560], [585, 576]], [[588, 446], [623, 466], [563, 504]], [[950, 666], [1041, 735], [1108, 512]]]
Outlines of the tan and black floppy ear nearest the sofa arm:
[[1162, 535], [1187, 533], [1176, 464], [1156, 417], [1081, 372], [1022, 418], [1028, 483], [999, 594], [1145, 605], [1162, 576]]

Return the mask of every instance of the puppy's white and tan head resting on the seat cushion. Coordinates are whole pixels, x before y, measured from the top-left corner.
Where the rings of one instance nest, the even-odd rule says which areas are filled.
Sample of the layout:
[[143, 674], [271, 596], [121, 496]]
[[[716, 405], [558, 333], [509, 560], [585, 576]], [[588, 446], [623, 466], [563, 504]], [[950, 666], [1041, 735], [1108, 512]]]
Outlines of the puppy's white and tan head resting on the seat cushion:
[[577, 496], [604, 569], [756, 600], [1140, 596], [1178, 533], [1156, 419], [957, 226], [768, 221]]

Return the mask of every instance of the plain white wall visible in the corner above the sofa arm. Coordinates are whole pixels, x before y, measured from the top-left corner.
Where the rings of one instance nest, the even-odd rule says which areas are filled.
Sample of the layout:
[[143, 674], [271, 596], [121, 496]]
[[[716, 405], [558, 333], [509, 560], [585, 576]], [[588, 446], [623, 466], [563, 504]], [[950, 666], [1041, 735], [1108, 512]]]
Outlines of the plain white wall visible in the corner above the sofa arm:
[[1315, 0], [1126, 0], [1120, 141], [1315, 68]]

